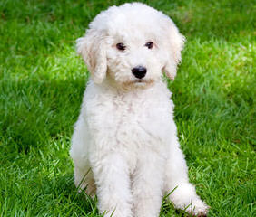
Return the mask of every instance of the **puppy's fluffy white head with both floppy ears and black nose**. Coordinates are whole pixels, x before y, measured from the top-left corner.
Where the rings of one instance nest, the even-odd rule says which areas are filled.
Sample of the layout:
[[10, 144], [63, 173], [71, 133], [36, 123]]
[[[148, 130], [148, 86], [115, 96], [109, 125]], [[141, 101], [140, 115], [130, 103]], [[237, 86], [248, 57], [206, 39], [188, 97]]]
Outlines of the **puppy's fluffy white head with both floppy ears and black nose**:
[[184, 37], [162, 12], [140, 3], [113, 6], [89, 27], [77, 52], [95, 83], [107, 76], [118, 85], [144, 87], [160, 80], [162, 71], [174, 79]]

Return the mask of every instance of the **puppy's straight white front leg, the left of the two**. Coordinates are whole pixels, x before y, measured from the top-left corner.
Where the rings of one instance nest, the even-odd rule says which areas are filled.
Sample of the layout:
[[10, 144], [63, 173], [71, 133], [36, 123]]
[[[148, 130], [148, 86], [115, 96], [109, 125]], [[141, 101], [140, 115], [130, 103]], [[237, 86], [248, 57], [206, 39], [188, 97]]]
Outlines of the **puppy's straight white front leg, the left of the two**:
[[129, 170], [120, 154], [93, 159], [98, 208], [104, 216], [132, 217], [132, 193]]

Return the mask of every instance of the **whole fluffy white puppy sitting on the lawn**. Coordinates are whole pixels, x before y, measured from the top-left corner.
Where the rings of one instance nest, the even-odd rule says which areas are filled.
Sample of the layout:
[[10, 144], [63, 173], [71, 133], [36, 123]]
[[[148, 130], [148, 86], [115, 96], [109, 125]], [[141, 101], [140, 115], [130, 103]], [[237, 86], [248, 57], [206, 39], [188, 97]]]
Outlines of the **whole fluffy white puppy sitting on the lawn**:
[[164, 193], [178, 209], [206, 215], [189, 183], [173, 121], [171, 92], [184, 37], [172, 20], [140, 3], [98, 14], [77, 52], [91, 72], [74, 127], [70, 155], [74, 182], [100, 212], [114, 217], [157, 217]]

